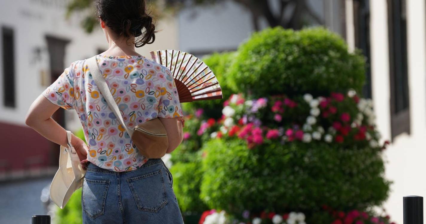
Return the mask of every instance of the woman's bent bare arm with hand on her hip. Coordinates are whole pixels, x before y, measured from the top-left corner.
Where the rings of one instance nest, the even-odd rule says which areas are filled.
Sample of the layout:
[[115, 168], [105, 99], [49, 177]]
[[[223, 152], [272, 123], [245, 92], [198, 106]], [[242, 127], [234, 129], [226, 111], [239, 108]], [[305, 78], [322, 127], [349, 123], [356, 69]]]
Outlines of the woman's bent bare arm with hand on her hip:
[[[66, 130], [51, 118], [53, 113], [59, 108], [60, 106], [53, 104], [43, 95], [39, 95], [29, 107], [25, 123], [50, 141], [66, 147], [68, 144]], [[83, 154], [86, 150], [82, 149], [82, 147], [86, 145], [84, 141], [72, 135], [71, 144], [75, 147], [77, 152], [80, 152], [80, 159], [85, 159], [85, 155]]]

